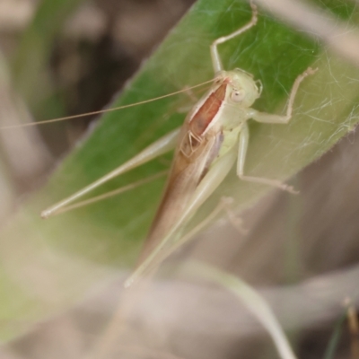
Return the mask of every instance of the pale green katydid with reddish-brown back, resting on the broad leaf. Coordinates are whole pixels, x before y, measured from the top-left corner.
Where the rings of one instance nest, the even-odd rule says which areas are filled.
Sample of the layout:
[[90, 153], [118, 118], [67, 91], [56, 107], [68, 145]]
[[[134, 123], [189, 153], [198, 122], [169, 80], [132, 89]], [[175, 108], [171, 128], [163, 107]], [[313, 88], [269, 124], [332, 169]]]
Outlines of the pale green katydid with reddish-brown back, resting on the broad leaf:
[[128, 278], [126, 286], [134, 284], [145, 271], [166, 257], [168, 248], [178, 239], [182, 227], [221, 184], [235, 162], [237, 162], [237, 175], [241, 180], [294, 192], [292, 187], [278, 180], [244, 174], [250, 138], [247, 121], [253, 119], [260, 123], [288, 123], [292, 118], [293, 102], [300, 83], [316, 70], [309, 67], [296, 78], [284, 116], [252, 109], [252, 104], [261, 94], [261, 83], [255, 81], [252, 74], [239, 68], [224, 71], [218, 52], [220, 44], [240, 36], [257, 23], [257, 6], [253, 3], [250, 5], [252, 9], [250, 22], [227, 36], [215, 39], [211, 45], [215, 79], [209, 91], [189, 111], [183, 126], [149, 145], [118, 169], [73, 196], [49, 207], [41, 214], [42, 217], [47, 218], [63, 212], [74, 200], [93, 188], [174, 149], [174, 158], [162, 202], [144, 243], [139, 265]]

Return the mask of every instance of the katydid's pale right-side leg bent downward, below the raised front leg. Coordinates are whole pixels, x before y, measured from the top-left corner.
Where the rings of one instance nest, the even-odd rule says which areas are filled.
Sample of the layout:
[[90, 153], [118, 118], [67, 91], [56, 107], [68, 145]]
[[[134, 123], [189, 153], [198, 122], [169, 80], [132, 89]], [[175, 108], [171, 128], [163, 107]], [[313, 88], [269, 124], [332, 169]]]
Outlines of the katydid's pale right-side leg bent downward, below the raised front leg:
[[288, 186], [285, 183], [280, 182], [279, 180], [269, 180], [269, 179], [263, 179], [261, 177], [250, 177], [250, 176], [245, 176], [243, 174], [249, 140], [250, 140], [250, 131], [248, 129], [247, 123], [244, 123], [241, 127], [240, 145], [239, 145], [239, 150], [238, 150], [238, 162], [237, 162], [238, 177], [241, 180], [247, 180], [249, 182], [263, 183], [265, 185], [274, 186], [276, 188], [280, 188], [280, 189], [286, 190], [288, 192], [297, 193], [294, 191], [292, 186]]

